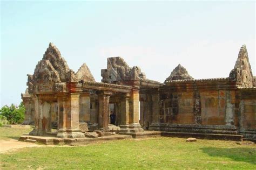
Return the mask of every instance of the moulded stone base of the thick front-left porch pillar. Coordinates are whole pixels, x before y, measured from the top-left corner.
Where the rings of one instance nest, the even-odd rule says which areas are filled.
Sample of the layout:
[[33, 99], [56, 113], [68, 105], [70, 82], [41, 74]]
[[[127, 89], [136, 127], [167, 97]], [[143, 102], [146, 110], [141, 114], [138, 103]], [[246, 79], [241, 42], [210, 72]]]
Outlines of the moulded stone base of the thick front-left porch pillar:
[[59, 129], [58, 138], [84, 138], [84, 133], [80, 129]]

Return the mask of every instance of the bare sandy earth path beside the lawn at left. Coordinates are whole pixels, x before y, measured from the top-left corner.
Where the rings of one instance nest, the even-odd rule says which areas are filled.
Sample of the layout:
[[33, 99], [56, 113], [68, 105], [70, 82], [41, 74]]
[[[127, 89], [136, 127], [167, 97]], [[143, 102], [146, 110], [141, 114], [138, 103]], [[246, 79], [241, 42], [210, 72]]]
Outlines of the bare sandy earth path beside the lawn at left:
[[18, 141], [15, 139], [0, 140], [0, 153], [11, 152], [11, 151], [17, 150], [18, 148], [23, 148], [23, 147], [42, 147], [42, 146], [45, 146], [45, 145], [37, 145], [37, 144], [28, 143], [24, 141]]

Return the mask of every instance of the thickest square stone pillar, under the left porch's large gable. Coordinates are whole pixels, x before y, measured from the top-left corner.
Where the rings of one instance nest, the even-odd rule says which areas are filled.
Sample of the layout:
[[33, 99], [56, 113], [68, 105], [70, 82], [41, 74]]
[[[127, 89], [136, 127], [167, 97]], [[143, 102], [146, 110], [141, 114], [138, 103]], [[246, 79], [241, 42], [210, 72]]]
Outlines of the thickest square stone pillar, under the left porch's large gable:
[[58, 96], [58, 134], [59, 138], [83, 138], [79, 129], [80, 94], [60, 94]]

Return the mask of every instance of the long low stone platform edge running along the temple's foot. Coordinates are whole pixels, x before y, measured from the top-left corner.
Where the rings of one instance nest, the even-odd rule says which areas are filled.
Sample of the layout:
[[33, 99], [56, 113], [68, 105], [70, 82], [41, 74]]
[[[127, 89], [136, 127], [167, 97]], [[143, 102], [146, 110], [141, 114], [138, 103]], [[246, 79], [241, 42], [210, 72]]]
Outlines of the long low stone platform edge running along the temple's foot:
[[234, 140], [242, 141], [242, 135], [238, 134], [215, 134], [215, 133], [185, 133], [185, 132], [164, 132], [164, 131], [144, 131], [142, 133], [119, 133], [111, 136], [103, 136], [98, 138], [57, 138], [55, 133], [47, 136], [31, 136], [24, 134], [19, 141], [27, 141], [31, 143], [40, 143], [45, 145], [71, 145], [82, 146], [100, 141], [122, 140], [122, 139], [140, 139], [152, 137], [179, 137], [179, 138], [198, 138], [198, 139], [216, 139], [216, 140]]

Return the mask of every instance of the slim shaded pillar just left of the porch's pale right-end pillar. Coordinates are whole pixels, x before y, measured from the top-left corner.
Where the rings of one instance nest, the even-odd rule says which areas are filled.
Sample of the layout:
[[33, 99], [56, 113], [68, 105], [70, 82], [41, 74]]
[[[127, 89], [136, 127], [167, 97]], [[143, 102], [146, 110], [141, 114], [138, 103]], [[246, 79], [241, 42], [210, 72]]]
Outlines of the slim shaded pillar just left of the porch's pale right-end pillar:
[[121, 124], [120, 124], [120, 132], [127, 133], [130, 132], [129, 129], [129, 102], [130, 102], [130, 94], [127, 93], [121, 98]]

